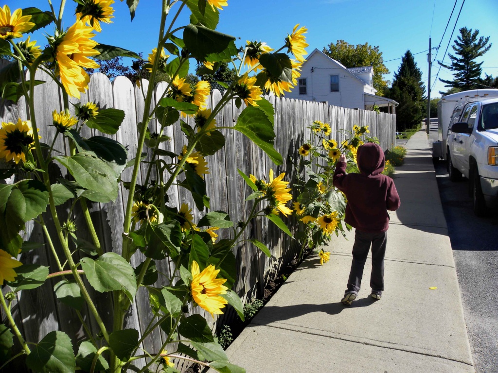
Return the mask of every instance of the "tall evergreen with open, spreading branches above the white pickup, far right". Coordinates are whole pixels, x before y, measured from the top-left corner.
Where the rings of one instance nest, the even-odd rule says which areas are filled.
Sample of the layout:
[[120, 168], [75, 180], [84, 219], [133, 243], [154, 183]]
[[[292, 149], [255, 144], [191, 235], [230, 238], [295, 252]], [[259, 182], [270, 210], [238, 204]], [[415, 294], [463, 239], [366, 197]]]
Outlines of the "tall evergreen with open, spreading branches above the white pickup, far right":
[[483, 62], [477, 63], [475, 60], [488, 52], [492, 46], [488, 44], [490, 37], [479, 37], [479, 30], [474, 32], [467, 27], [460, 29], [460, 35], [454, 40], [452, 46], [455, 55], [448, 54], [451, 60], [451, 65], [441, 66], [453, 71], [454, 80], [448, 81], [439, 79], [446, 83], [445, 87], [459, 88], [462, 91], [474, 90], [483, 88], [481, 83], [481, 65]]

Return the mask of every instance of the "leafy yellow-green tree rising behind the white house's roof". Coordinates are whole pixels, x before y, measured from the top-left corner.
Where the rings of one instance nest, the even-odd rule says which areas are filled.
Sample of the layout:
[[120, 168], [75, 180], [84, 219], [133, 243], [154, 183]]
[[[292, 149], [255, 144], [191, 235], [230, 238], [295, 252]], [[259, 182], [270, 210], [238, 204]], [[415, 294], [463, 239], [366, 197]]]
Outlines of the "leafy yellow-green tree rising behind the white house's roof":
[[330, 43], [323, 48], [323, 53], [348, 68], [373, 66], [373, 88], [380, 96], [385, 93], [389, 82], [383, 80], [382, 76], [389, 74], [389, 70], [384, 65], [382, 52], [379, 51], [378, 46], [372, 46], [369, 43], [355, 46], [344, 40], [338, 40], [337, 43]]

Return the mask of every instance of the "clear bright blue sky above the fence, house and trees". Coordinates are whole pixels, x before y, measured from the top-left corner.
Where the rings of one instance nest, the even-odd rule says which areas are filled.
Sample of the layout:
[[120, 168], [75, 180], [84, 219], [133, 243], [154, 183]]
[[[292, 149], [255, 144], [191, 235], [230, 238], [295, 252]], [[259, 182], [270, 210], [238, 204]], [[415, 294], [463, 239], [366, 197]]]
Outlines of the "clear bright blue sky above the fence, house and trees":
[[[322, 50], [329, 43], [343, 39], [350, 44], [378, 46], [382, 52], [386, 67], [390, 73], [384, 79], [392, 81], [398, 70], [401, 56], [406, 50], [413, 54], [428, 49], [429, 35], [432, 46], [441, 47], [437, 60], [441, 61], [450, 35], [455, 26], [456, 17], [463, 0], [457, 0], [454, 14], [443, 37], [443, 32], [451, 14], [455, 0], [228, 0], [229, 6], [221, 11], [218, 30], [240, 38], [237, 45], [246, 40], [260, 40], [271, 47], [280, 48], [287, 33], [295, 24], [308, 28], [307, 52]], [[46, 0], [4, 0], [11, 9], [36, 6], [42, 10], [49, 9]], [[60, 0], [53, 0], [58, 8]], [[156, 34], [160, 19], [160, 0], [141, 0], [133, 22], [125, 2], [116, 1], [114, 23], [103, 26], [103, 32], [95, 39], [105, 44], [113, 44], [134, 52], [143, 52], [145, 56], [157, 44]], [[67, 0], [65, 26], [73, 21], [75, 3]], [[173, 9], [174, 10], [174, 9]], [[188, 17], [181, 17], [178, 24], [186, 24]], [[498, 75], [498, 1], [466, 0], [456, 23], [448, 52], [453, 52], [453, 40], [459, 34], [460, 27], [479, 29], [481, 36], [491, 36], [492, 48], [483, 56], [484, 72]], [[183, 23], [180, 23], [183, 22]], [[52, 33], [52, 26], [35, 33], [39, 43], [45, 43], [42, 35]], [[433, 51], [435, 53], [435, 51]], [[434, 55], [433, 55], [434, 59]], [[389, 61], [393, 60], [393, 61]], [[427, 52], [415, 55], [415, 61], [423, 73], [427, 85]], [[448, 56], [444, 59], [449, 62]], [[432, 66], [431, 81], [434, 82], [439, 70], [437, 63]], [[439, 77], [452, 80], [449, 71], [442, 68]], [[433, 83], [431, 84], [433, 86]], [[446, 91], [444, 84], [437, 82], [432, 88], [431, 96], [439, 96], [439, 91]]]

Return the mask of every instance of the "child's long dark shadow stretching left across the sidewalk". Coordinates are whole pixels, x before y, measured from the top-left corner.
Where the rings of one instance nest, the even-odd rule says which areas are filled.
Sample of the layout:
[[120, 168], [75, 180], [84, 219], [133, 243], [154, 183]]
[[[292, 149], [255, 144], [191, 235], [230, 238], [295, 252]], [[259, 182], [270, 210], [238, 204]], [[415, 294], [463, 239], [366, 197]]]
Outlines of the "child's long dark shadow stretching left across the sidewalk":
[[252, 319], [253, 324], [267, 325], [272, 322], [289, 320], [313, 312], [324, 312], [329, 315], [337, 315], [347, 312], [348, 309], [357, 307], [367, 307], [375, 303], [371, 296], [353, 301], [350, 306], [341, 302], [326, 304], [296, 304], [291, 306], [264, 306]]

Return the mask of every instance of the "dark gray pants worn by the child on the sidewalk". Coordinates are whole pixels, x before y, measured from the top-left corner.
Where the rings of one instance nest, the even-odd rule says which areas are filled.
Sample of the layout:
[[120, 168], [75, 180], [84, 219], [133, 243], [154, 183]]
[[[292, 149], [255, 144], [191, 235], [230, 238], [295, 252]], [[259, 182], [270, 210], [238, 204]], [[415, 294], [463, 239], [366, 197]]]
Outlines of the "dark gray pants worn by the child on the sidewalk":
[[370, 246], [372, 245], [372, 275], [370, 287], [372, 291], [384, 290], [384, 255], [387, 244], [387, 232], [368, 233], [356, 230], [355, 244], [353, 245], [353, 262], [348, 280], [348, 292], [358, 294], [362, 284], [363, 268], [367, 261]]

